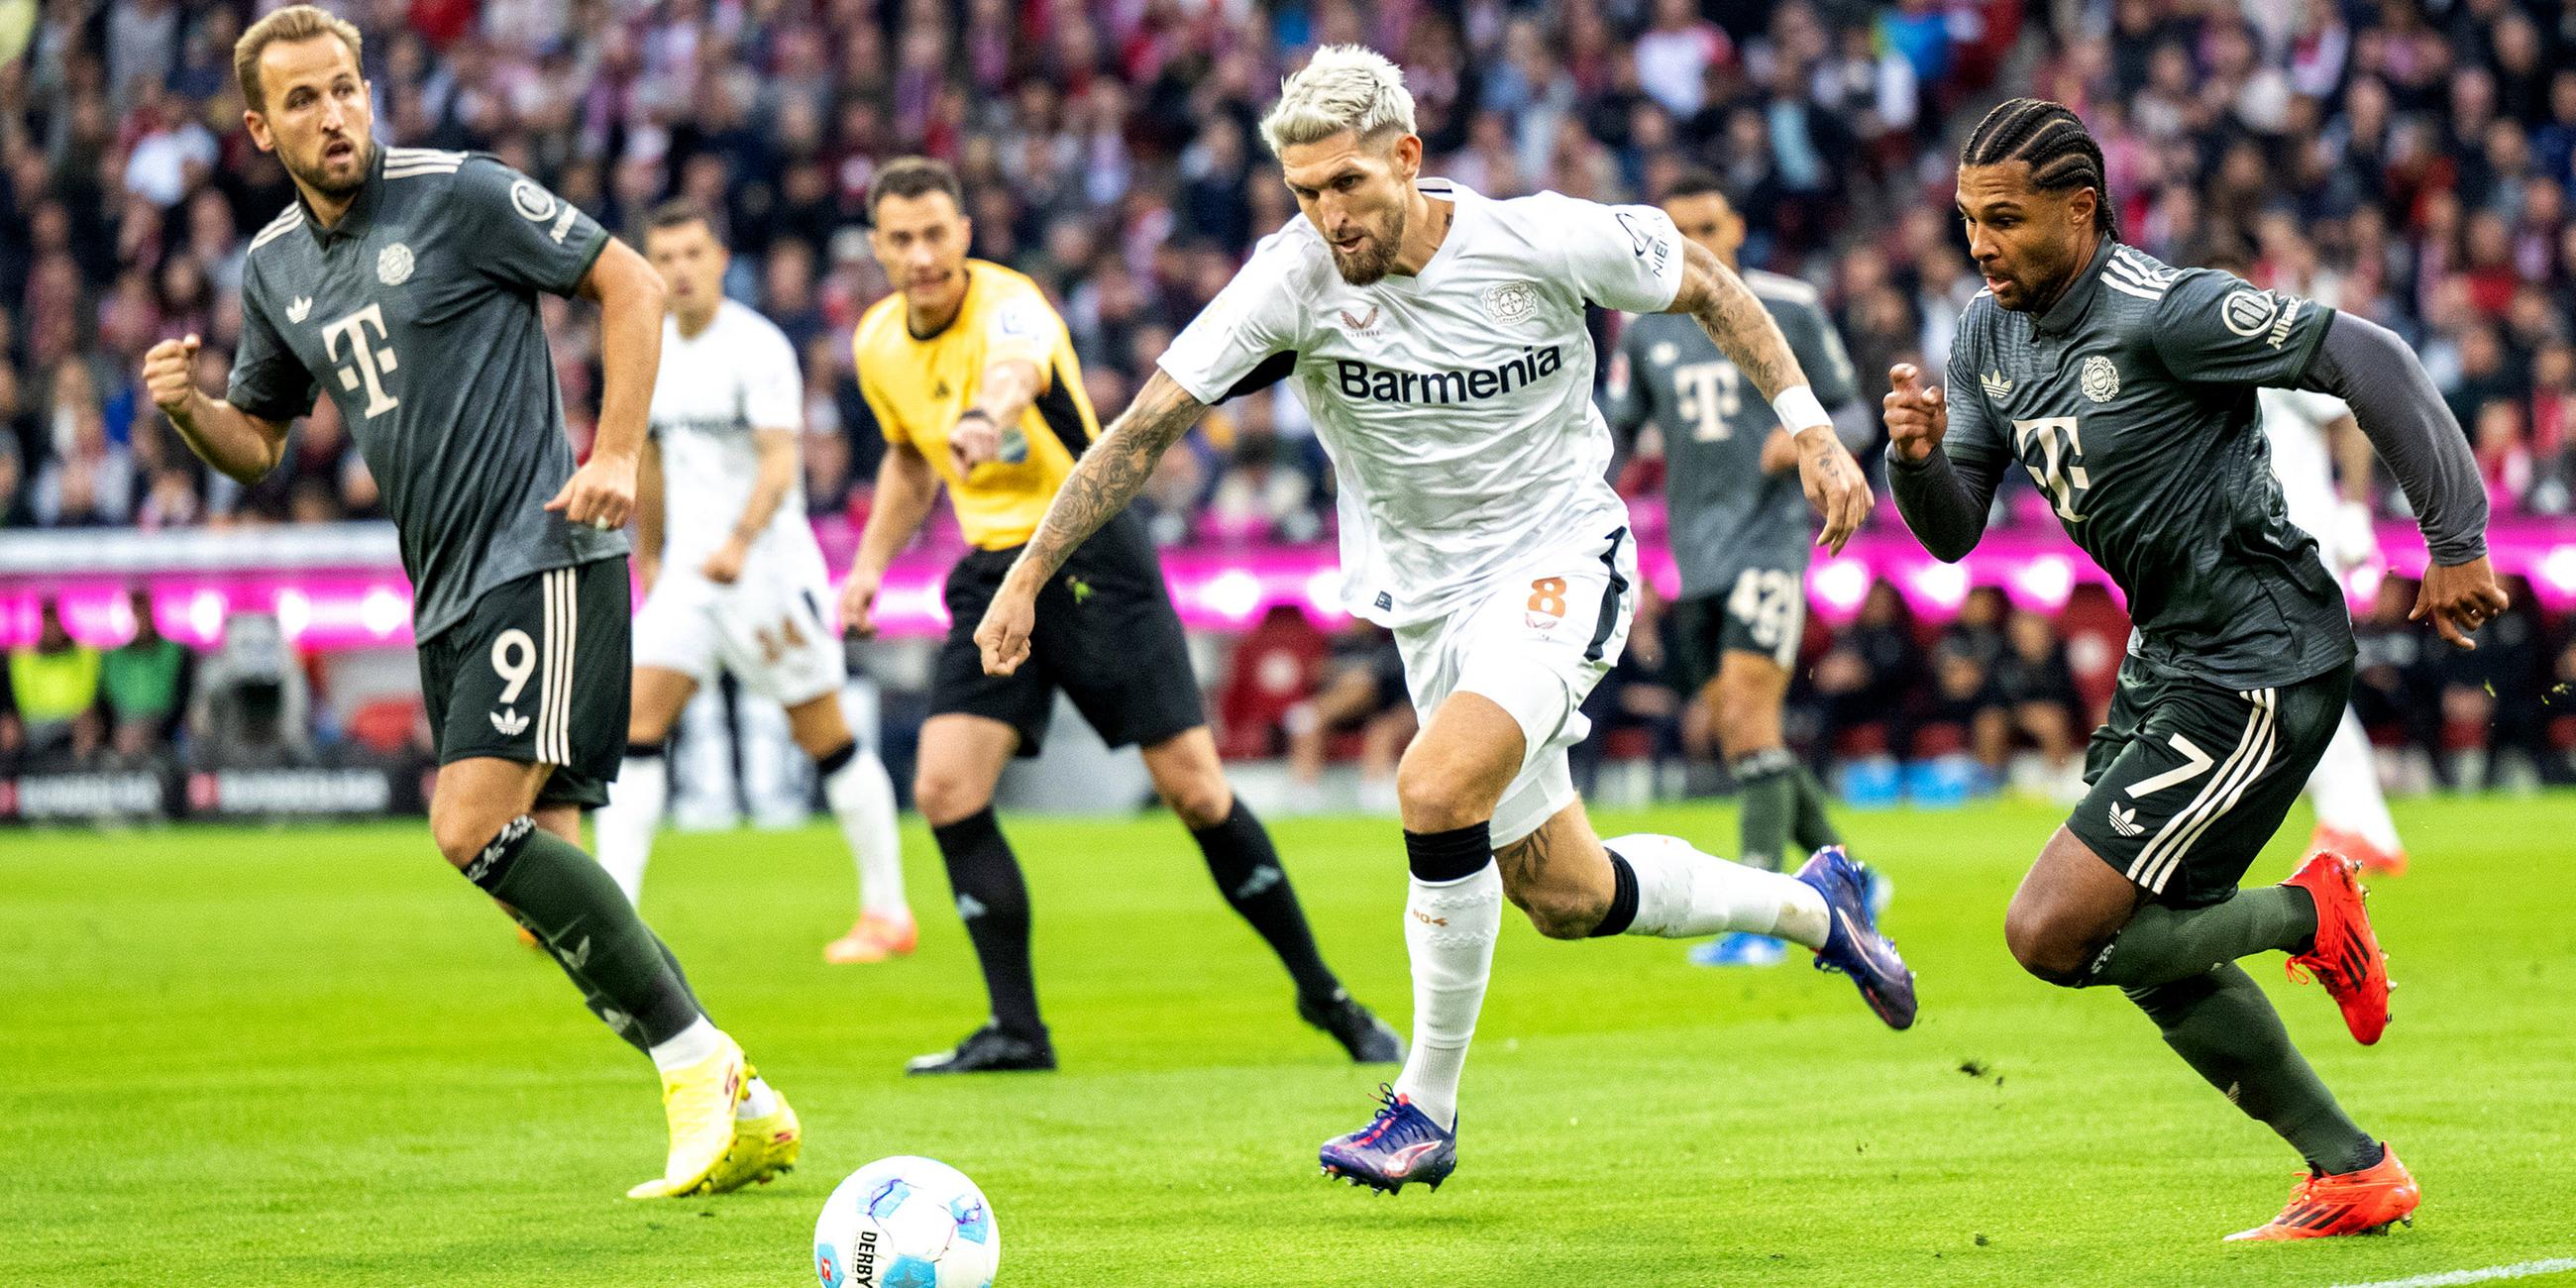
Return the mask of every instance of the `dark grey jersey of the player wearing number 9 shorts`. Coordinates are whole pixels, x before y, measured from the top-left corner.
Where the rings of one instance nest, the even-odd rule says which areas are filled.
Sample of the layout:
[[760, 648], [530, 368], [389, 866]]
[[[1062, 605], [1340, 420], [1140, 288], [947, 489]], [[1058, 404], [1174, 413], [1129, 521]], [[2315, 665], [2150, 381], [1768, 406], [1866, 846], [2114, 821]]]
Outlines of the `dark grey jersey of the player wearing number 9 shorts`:
[[379, 147], [337, 227], [299, 201], [250, 240], [227, 399], [289, 422], [332, 397], [402, 533], [417, 639], [502, 582], [626, 554], [546, 513], [572, 443], [536, 294], [569, 296], [605, 245], [500, 160], [417, 147]]

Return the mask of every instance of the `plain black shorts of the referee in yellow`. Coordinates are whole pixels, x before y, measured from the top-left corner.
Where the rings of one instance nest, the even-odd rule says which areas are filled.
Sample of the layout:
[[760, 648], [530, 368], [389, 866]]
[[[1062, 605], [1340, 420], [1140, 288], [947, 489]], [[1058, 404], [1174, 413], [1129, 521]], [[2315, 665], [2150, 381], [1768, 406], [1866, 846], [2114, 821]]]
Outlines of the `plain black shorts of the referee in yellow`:
[[984, 716], [1020, 732], [1038, 755], [1056, 690], [1110, 747], [1151, 747], [1208, 724], [1180, 613], [1144, 523], [1118, 515], [1074, 549], [1038, 590], [1038, 626], [1015, 675], [984, 675], [974, 644], [984, 608], [1020, 549], [969, 551], [948, 569], [948, 641], [930, 677], [933, 716]]

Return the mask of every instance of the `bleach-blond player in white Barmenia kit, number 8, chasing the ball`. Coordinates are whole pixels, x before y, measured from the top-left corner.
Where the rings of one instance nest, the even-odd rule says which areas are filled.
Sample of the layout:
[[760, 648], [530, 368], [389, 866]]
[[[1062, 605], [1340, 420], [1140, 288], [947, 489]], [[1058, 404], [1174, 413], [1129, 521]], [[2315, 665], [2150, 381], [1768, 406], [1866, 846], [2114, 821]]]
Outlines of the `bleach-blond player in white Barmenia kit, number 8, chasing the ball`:
[[1208, 404], [1296, 379], [1342, 479], [1345, 605], [1396, 631], [1422, 711], [1396, 768], [1414, 1048], [1376, 1118], [1324, 1144], [1324, 1172], [1401, 1190], [1458, 1164], [1458, 1074], [1504, 899], [1566, 940], [1780, 935], [1852, 974], [1880, 1020], [1911, 1025], [1914, 976], [1873, 930], [1862, 871], [1842, 850], [1790, 878], [1682, 837], [1605, 845], [1566, 768], [1589, 729], [1582, 701], [1618, 662], [1636, 608], [1584, 301], [1687, 312], [1708, 330], [1795, 428], [1824, 544], [1839, 549], [1870, 510], [1762, 301], [1654, 206], [1489, 201], [1419, 178], [1404, 72], [1370, 49], [1319, 49], [1262, 137], [1301, 216], [1260, 242], [1082, 456], [976, 641], [994, 675], [1018, 675], [1033, 644], [1043, 667], [1066, 621], [1043, 590], [1056, 569], [1090, 559], [1095, 531], [1115, 538], [1115, 515]]

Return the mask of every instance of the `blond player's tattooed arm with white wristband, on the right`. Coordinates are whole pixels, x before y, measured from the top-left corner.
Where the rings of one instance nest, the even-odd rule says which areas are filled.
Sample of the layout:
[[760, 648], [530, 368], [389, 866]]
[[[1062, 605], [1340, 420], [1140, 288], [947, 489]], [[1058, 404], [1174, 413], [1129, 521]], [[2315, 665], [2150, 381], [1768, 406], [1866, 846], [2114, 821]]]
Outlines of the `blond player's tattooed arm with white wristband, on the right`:
[[1816, 392], [1798, 368], [1788, 337], [1772, 322], [1770, 309], [1744, 286], [1723, 260], [1708, 247], [1682, 240], [1682, 289], [1674, 291], [1664, 312], [1690, 314], [1700, 330], [1718, 343], [1736, 371], [1744, 371], [1754, 389], [1780, 412], [1798, 443], [1798, 482], [1806, 502], [1824, 515], [1819, 546], [1842, 551], [1860, 520], [1870, 518], [1870, 484], [1860, 474], [1860, 461], [1834, 438], [1834, 422], [1816, 402]]

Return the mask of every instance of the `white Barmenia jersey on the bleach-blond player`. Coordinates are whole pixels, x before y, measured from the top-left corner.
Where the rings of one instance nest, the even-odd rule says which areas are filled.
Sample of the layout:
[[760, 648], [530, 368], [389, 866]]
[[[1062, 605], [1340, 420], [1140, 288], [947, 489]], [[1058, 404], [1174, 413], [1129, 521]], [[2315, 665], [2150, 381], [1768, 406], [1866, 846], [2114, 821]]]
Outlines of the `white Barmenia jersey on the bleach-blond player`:
[[1383, 626], [1448, 616], [1533, 551], [1628, 523], [1584, 301], [1662, 312], [1682, 289], [1682, 234], [1654, 206], [1417, 185], [1458, 204], [1422, 273], [1350, 286], [1298, 216], [1162, 355], [1211, 404], [1296, 355], [1291, 386], [1340, 479], [1342, 603]]

